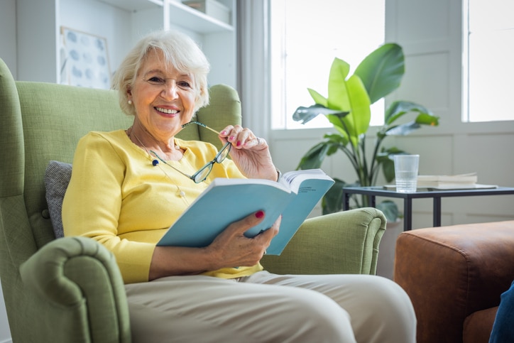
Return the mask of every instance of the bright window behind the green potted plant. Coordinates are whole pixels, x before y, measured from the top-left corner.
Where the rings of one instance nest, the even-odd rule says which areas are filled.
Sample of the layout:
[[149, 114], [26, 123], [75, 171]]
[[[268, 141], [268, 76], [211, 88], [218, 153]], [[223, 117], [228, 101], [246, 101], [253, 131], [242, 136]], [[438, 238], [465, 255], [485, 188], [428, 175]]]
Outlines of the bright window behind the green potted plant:
[[[353, 73], [384, 36], [385, 0], [270, 1], [272, 129], [332, 126], [323, 116], [302, 125], [292, 114], [314, 104], [307, 88], [327, 96], [334, 58]], [[373, 104], [371, 124], [383, 124], [383, 108], [383, 101]]]

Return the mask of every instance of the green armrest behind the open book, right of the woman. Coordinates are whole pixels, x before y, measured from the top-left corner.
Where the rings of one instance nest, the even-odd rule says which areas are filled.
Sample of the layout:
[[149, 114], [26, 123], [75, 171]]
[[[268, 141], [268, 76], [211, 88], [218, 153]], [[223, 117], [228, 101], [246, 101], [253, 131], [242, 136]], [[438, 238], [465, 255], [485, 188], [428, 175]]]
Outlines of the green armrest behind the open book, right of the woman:
[[271, 273], [375, 274], [386, 217], [371, 207], [305, 220], [280, 256], [263, 256]]

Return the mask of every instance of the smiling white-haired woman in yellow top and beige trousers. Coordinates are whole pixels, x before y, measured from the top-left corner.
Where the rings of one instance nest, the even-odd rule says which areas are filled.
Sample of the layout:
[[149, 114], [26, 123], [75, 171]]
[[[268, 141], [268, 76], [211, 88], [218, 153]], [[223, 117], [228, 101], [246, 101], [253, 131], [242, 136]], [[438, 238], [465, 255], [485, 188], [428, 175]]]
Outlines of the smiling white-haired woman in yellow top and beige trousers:
[[214, 178], [278, 178], [266, 141], [241, 126], [219, 133], [231, 159], [217, 158], [210, 173], [197, 173], [217, 149], [175, 135], [208, 103], [208, 72], [187, 36], [146, 36], [114, 80], [132, 126], [89, 133], [75, 153], [65, 234], [96, 239], [116, 256], [133, 341], [415, 342], [412, 305], [392, 281], [263, 271], [259, 261], [280, 219], [253, 239], [243, 234], [266, 216], [262, 211], [201, 249], [156, 246]]

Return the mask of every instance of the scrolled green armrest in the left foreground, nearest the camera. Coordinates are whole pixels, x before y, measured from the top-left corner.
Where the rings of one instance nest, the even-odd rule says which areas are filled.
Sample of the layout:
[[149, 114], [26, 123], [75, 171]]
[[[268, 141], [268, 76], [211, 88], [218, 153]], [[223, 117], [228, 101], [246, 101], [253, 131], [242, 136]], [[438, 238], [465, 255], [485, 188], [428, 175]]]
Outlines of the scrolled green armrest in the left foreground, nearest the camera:
[[114, 256], [84, 237], [56, 239], [21, 267], [40, 342], [130, 342], [124, 283]]

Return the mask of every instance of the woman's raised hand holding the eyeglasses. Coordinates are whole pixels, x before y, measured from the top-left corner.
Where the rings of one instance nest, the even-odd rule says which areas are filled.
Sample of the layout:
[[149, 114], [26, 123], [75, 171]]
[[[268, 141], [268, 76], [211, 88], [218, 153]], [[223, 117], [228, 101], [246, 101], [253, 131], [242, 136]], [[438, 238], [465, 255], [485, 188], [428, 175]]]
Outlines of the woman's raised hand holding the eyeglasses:
[[226, 126], [219, 137], [232, 143], [230, 157], [246, 178], [277, 180], [277, 170], [271, 160], [268, 143], [242, 126]]

